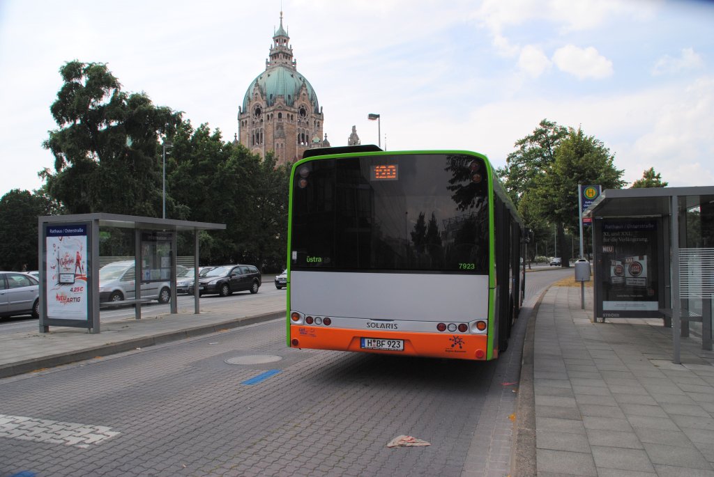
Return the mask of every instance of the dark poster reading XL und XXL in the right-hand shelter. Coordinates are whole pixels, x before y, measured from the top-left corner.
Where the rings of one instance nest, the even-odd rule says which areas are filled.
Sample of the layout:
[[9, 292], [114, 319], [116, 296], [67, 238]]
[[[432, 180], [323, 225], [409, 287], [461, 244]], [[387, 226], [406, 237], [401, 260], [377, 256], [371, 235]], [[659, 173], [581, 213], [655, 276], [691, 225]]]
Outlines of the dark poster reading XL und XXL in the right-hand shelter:
[[600, 316], [658, 317], [657, 220], [603, 220], [601, 234]]

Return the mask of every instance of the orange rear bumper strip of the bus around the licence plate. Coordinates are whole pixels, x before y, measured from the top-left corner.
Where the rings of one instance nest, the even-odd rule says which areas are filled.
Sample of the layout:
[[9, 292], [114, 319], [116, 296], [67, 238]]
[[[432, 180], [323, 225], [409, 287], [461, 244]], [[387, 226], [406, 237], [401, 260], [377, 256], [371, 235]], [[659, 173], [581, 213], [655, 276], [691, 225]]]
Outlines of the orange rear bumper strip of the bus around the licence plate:
[[[365, 349], [362, 338], [403, 340], [403, 349]], [[415, 333], [358, 331], [356, 329], [306, 327], [291, 325], [290, 346], [292, 348], [331, 349], [335, 351], [367, 352], [401, 356], [421, 356], [450, 359], [472, 359], [486, 361], [496, 358], [497, 353], [488, 357], [488, 337], [486, 334]]]

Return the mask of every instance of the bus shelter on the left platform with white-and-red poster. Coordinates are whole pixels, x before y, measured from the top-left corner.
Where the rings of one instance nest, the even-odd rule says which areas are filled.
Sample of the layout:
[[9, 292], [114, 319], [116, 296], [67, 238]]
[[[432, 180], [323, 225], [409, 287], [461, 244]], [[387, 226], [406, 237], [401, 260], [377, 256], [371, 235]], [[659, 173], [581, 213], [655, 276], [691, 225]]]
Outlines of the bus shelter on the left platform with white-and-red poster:
[[[193, 232], [193, 279], [198, 282], [198, 232], [225, 230], [225, 224], [91, 213], [38, 217], [40, 272], [39, 331], [50, 326], [100, 332], [99, 237], [102, 227], [134, 230], [134, 293], [124, 300], [141, 319], [141, 286], [170, 282], [171, 313], [176, 314], [176, 233]], [[136, 290], [139, 290], [137, 293]], [[198, 287], [194, 287], [198, 314]]]

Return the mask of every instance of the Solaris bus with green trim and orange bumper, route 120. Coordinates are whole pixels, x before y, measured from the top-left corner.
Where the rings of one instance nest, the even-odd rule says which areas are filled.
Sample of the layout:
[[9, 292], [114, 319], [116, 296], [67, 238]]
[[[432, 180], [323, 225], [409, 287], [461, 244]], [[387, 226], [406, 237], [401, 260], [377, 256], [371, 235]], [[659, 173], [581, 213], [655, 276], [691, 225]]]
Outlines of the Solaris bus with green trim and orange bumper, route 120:
[[485, 155], [308, 150], [291, 173], [288, 347], [496, 359], [523, 237]]

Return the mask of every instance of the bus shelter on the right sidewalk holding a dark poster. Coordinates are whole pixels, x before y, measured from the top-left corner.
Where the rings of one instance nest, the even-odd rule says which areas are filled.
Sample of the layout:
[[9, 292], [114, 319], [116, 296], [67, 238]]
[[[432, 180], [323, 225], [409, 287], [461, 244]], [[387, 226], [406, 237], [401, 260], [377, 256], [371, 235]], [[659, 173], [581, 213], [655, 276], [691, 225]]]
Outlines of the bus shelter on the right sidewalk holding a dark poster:
[[583, 216], [593, 219], [595, 321], [663, 318], [675, 364], [700, 322], [712, 349], [714, 186], [609, 189]]

